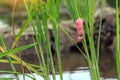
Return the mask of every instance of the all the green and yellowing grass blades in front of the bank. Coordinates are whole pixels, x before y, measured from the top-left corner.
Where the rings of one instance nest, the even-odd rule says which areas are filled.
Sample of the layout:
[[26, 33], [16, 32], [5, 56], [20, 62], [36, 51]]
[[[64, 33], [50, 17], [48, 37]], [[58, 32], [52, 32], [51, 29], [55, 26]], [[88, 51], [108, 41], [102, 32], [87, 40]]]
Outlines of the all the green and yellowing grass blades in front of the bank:
[[[24, 4], [26, 7], [26, 12], [28, 14], [28, 18], [24, 22], [23, 26], [21, 27], [20, 31], [15, 37], [14, 43], [12, 44], [11, 49], [7, 49], [2, 37], [0, 36], [0, 47], [2, 52], [0, 52], [0, 62], [9, 63], [13, 71], [2, 71], [6, 73], [12, 73], [16, 75], [18, 78], [18, 73], [14, 67], [14, 64], [21, 64], [22, 66], [26, 67], [29, 72], [34, 72], [40, 76], [42, 76], [45, 80], [50, 80], [49, 74], [52, 73], [53, 80], [56, 80], [56, 71], [53, 61], [53, 55], [51, 50], [51, 41], [49, 38], [49, 25], [48, 23], [52, 24], [52, 30], [55, 38], [55, 49], [59, 67], [59, 75], [60, 80], [63, 80], [62, 76], [62, 63], [61, 63], [61, 52], [60, 52], [60, 30], [62, 30], [67, 37], [75, 43], [75, 41], [71, 38], [71, 36], [64, 30], [64, 28], [59, 24], [60, 22], [60, 5], [63, 0], [31, 0], [31, 4], [28, 5], [26, 0], [24, 0]], [[112, 0], [114, 5], [116, 5], [116, 32], [117, 32], [117, 45], [116, 45], [116, 67], [118, 73], [118, 79], [120, 80], [120, 28], [119, 28], [119, 12], [118, 12], [118, 4], [120, 0]], [[108, 4], [114, 6], [113, 4], [109, 3], [112, 2], [107, 0]], [[63, 1], [64, 2], [64, 1]], [[102, 0], [103, 2], [103, 0]], [[98, 35], [98, 46], [97, 49], [94, 46], [94, 39], [93, 39], [93, 32], [94, 32], [94, 11], [95, 11], [95, 0], [65, 0], [65, 5], [70, 12], [70, 15], [74, 22], [78, 18], [83, 18], [85, 25], [84, 25], [84, 32], [83, 35], [83, 47], [85, 53], [81, 51], [81, 49], [77, 46], [79, 51], [84, 55], [84, 57], [88, 61], [88, 65], [90, 68], [91, 79], [92, 80], [100, 80], [99, 74], [99, 67], [98, 67], [98, 60], [99, 60], [99, 48], [100, 48], [100, 32], [101, 32], [101, 22], [99, 28], [99, 35]], [[102, 3], [103, 6], [103, 3]], [[102, 15], [101, 15], [102, 19]], [[25, 31], [27, 25], [30, 23], [32, 25], [33, 31], [35, 33], [35, 38], [33, 38], [33, 43], [29, 45], [24, 45], [22, 47], [15, 48], [17, 42], [21, 38], [23, 32]], [[87, 38], [87, 39], [86, 39]], [[87, 40], [89, 43], [89, 48], [87, 46]], [[21, 52], [28, 48], [35, 48], [36, 55], [38, 58], [38, 65], [30, 64], [22, 59], [20, 59], [15, 54]], [[45, 57], [45, 54], [47, 55]], [[7, 59], [3, 59], [6, 56]], [[40, 69], [39, 72], [37, 69]], [[22, 73], [25, 76], [24, 73]], [[33, 77], [30, 77], [34, 79]], [[8, 80], [6, 78], [2, 78], [0, 80]]]

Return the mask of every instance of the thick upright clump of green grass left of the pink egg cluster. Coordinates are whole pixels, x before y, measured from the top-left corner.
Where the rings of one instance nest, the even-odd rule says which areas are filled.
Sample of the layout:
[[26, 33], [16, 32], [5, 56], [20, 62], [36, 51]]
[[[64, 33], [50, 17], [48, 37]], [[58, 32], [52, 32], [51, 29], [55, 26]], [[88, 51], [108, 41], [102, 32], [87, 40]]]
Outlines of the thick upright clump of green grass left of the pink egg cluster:
[[[49, 39], [49, 26], [48, 23], [51, 22], [53, 34], [55, 38], [56, 54], [58, 58], [59, 74], [62, 80], [62, 65], [61, 65], [61, 55], [60, 55], [60, 42], [59, 42], [59, 27], [58, 23], [60, 20], [60, 0], [34, 0], [31, 2], [31, 6], [24, 0], [26, 10], [28, 13], [28, 18], [33, 27], [36, 35], [36, 42], [38, 43], [38, 48], [36, 47], [36, 52], [38, 59], [42, 61], [40, 66], [42, 67], [43, 77], [45, 80], [49, 80], [49, 74], [52, 73], [53, 80], [56, 80], [55, 67], [53, 62], [53, 56], [51, 51], [51, 43]], [[33, 16], [33, 17], [32, 17]], [[54, 20], [52, 19], [54, 18]], [[33, 23], [36, 21], [36, 24]], [[58, 23], [56, 23], [58, 22]], [[45, 50], [43, 50], [45, 48]], [[44, 52], [47, 54], [47, 61], [45, 62]]]

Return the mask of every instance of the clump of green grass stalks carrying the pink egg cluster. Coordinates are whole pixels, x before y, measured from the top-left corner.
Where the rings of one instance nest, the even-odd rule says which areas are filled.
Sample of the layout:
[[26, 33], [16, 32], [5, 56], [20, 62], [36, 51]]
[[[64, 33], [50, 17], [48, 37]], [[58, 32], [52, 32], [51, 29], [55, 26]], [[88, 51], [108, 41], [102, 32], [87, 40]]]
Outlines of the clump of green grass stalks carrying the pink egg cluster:
[[[84, 6], [81, 6], [81, 4], [84, 4]], [[94, 46], [94, 39], [93, 39], [93, 33], [94, 33], [94, 9], [95, 9], [95, 0], [66, 0], [66, 6], [73, 18], [74, 21], [78, 18], [83, 18], [85, 22], [85, 28], [84, 28], [84, 38], [83, 38], [83, 47], [86, 54], [86, 59], [88, 61], [88, 65], [90, 68], [91, 73], [91, 79], [92, 80], [100, 80], [100, 74], [99, 74], [99, 67], [98, 67], [98, 56], [99, 56], [99, 46], [98, 51], [95, 50]], [[100, 30], [99, 30], [100, 32]], [[89, 48], [87, 47], [87, 40], [89, 43]], [[100, 34], [99, 39], [100, 40]], [[98, 42], [99, 44], [99, 42]]]

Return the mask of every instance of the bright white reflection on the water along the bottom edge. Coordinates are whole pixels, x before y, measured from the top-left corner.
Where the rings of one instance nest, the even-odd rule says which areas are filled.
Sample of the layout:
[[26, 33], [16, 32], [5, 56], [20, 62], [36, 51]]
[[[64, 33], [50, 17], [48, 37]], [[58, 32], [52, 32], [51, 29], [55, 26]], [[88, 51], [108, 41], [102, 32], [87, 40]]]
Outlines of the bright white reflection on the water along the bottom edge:
[[[29, 76], [35, 76], [35, 80], [44, 80], [42, 77], [40, 77], [37, 74], [28, 74]], [[14, 75], [12, 74], [1, 74], [0, 78], [14, 78]], [[24, 80], [23, 75], [19, 75], [20, 80]], [[16, 80], [16, 79], [13, 79]], [[25, 80], [33, 80], [29, 77], [25, 77]], [[52, 79], [52, 76], [50, 75], [50, 80]], [[56, 80], [60, 80], [60, 76], [56, 75]], [[91, 80], [90, 79], [90, 72], [89, 70], [79, 70], [79, 71], [71, 71], [71, 72], [64, 72], [63, 73], [63, 80]], [[100, 80], [117, 80], [115, 78], [101, 78]]]

